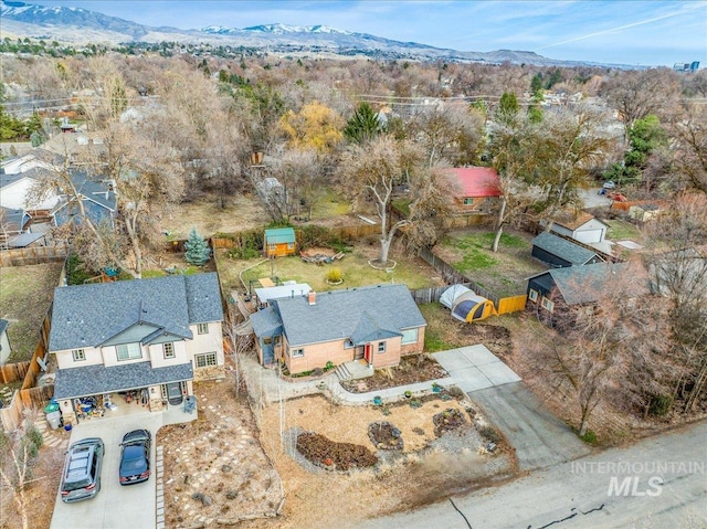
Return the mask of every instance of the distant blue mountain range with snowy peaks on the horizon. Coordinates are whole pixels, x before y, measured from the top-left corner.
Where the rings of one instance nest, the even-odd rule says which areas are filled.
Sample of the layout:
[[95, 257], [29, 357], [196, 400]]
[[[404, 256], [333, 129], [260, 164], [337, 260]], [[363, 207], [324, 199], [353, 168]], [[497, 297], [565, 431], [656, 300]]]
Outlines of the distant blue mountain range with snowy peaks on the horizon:
[[[81, 8], [44, 7], [0, 0], [0, 38], [30, 38], [72, 45], [129, 42], [208, 43], [253, 47], [273, 54], [328, 54], [373, 56], [383, 60], [449, 62], [503, 62], [544, 66], [602, 66], [597, 63], [557, 61], [535, 52], [498, 50], [464, 52], [415, 42], [399, 42], [367, 33], [337, 30], [326, 25], [263, 24], [251, 28], [209, 25], [200, 30], [154, 28]], [[608, 66], [608, 65], [603, 65]], [[618, 66], [618, 65], [613, 65]], [[620, 66], [620, 65], [619, 65]]]

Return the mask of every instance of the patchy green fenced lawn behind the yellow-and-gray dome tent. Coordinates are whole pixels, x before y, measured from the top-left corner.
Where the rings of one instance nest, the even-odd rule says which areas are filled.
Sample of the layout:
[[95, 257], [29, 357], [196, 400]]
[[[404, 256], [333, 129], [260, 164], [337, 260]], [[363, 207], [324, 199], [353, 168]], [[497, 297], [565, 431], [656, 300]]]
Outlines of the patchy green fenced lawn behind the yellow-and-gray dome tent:
[[498, 252], [490, 251], [495, 233], [489, 230], [451, 232], [434, 251], [458, 272], [499, 297], [526, 293], [527, 278], [545, 269], [530, 256], [532, 235], [507, 231]]

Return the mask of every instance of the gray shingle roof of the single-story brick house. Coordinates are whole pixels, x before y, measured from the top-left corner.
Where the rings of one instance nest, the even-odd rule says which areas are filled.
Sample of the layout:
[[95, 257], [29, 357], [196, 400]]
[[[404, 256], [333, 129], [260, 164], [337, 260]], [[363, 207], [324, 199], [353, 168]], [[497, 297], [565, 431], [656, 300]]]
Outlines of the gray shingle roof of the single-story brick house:
[[426, 325], [405, 285], [378, 285], [317, 293], [315, 305], [307, 296], [273, 301], [291, 346], [350, 338], [359, 329], [399, 332]]

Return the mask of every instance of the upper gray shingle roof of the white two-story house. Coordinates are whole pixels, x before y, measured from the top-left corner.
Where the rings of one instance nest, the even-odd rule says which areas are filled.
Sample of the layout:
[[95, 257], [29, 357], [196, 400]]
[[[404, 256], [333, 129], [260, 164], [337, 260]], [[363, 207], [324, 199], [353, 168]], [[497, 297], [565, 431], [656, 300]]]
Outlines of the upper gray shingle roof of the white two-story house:
[[96, 347], [139, 322], [191, 337], [190, 324], [222, 319], [214, 273], [57, 287], [49, 348]]

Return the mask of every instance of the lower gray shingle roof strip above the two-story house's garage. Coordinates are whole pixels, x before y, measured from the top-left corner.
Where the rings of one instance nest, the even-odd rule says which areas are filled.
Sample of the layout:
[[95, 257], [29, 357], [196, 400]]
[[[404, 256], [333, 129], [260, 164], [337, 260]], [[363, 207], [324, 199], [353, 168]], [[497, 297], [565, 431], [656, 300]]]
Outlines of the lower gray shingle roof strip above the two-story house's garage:
[[60, 369], [54, 379], [54, 399], [114, 393], [148, 385], [166, 384], [194, 378], [191, 362], [152, 369], [150, 362], [126, 366], [85, 366], [81, 369]]

